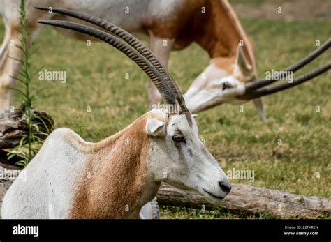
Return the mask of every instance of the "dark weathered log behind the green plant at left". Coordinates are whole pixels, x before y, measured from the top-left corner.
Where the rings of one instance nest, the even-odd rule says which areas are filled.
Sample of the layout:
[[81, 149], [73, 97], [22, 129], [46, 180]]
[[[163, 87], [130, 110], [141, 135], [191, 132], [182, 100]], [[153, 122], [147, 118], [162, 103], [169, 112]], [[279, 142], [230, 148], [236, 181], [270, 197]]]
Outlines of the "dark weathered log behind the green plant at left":
[[[50, 115], [37, 110], [32, 112], [47, 126], [46, 128], [40, 119], [33, 119], [33, 123], [36, 123], [42, 132], [47, 133], [47, 129], [50, 132], [53, 130], [54, 120]], [[20, 143], [22, 135], [27, 133], [26, 118], [22, 112], [22, 105], [13, 112], [11, 110], [0, 112], [0, 149], [10, 149]]]

